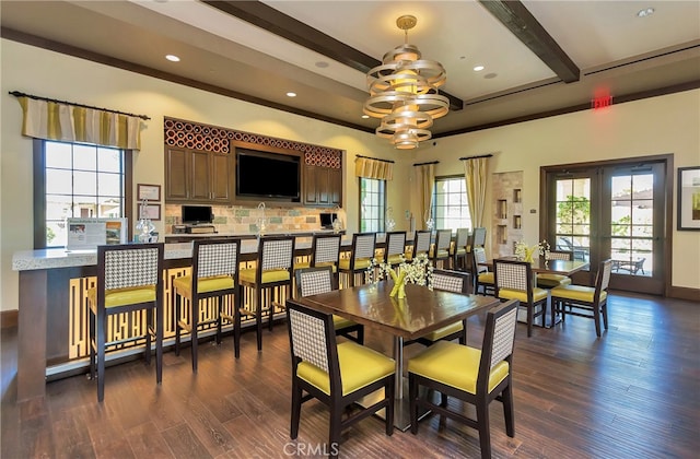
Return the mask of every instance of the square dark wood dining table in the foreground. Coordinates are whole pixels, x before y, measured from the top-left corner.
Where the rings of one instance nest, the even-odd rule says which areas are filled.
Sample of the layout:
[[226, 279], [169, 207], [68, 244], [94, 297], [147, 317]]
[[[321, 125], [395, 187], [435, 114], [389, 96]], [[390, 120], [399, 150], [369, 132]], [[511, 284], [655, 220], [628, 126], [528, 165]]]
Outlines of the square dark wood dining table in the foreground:
[[405, 342], [479, 314], [500, 301], [493, 296], [430, 290], [416, 284], [407, 284], [406, 297], [397, 298], [389, 295], [393, 286], [393, 282], [382, 281], [289, 302], [345, 317], [393, 337], [396, 365], [395, 426], [406, 431], [410, 426], [410, 412], [408, 399], [404, 398], [408, 392], [404, 378]]

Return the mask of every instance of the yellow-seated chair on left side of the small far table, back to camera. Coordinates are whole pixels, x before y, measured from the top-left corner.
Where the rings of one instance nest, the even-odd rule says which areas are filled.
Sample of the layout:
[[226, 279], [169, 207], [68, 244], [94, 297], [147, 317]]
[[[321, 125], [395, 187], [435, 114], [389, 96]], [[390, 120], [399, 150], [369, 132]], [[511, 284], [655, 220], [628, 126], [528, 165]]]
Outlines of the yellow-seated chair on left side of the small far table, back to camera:
[[[527, 338], [533, 336], [535, 318], [540, 317], [545, 327], [549, 292], [534, 286], [533, 267], [527, 261], [497, 258], [493, 260], [495, 296], [502, 301], [517, 299], [527, 308]], [[537, 309], [537, 310], [536, 310]]]

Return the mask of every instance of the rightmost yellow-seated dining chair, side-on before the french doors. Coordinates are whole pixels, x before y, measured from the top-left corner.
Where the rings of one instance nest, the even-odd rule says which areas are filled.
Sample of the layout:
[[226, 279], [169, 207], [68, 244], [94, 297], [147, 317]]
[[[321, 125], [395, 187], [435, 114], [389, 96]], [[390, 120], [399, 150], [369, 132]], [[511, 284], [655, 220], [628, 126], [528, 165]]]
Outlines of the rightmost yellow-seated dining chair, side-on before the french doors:
[[[595, 334], [600, 338], [600, 317], [603, 326], [608, 329], [608, 284], [610, 283], [610, 272], [612, 271], [612, 260], [600, 261], [596, 273], [595, 286], [584, 285], [562, 285], [555, 287], [551, 293], [551, 319], [556, 313], [561, 314], [562, 322], [567, 315], [586, 317], [595, 321]], [[569, 307], [569, 310], [565, 310]]]

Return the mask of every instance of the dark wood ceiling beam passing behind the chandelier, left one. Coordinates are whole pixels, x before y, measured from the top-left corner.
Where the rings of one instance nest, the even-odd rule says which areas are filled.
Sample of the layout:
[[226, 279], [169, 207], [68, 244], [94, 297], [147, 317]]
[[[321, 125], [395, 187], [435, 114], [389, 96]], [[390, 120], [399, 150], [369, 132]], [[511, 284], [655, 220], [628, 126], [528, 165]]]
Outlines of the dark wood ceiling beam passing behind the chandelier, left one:
[[[365, 55], [359, 49], [348, 46], [260, 1], [202, 0], [202, 3], [312, 49], [362, 73], [368, 73], [371, 69], [382, 64], [381, 60]], [[451, 110], [457, 111], [464, 108], [464, 102], [459, 97], [455, 97], [444, 91], [440, 91], [440, 94], [447, 97]]]

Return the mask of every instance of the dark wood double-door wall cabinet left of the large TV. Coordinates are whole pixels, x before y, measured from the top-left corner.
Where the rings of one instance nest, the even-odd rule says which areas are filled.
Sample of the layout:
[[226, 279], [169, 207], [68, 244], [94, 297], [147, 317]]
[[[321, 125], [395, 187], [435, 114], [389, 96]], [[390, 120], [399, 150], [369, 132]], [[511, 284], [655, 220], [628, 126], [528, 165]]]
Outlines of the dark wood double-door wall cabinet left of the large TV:
[[166, 149], [165, 201], [230, 204], [231, 155], [187, 149]]

